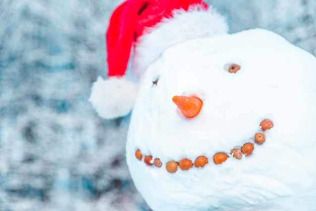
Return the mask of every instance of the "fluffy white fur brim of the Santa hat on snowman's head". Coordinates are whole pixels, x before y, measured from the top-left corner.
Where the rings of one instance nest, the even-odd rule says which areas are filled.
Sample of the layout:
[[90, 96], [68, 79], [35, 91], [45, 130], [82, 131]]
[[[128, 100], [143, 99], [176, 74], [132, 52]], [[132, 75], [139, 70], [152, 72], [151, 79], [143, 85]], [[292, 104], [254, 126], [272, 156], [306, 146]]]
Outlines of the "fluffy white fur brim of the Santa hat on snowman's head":
[[[225, 19], [210, 7], [200, 10], [192, 7], [189, 11], [174, 11], [173, 18], [166, 18], [140, 36], [134, 49], [133, 69], [141, 76], [148, 65], [159, 58], [162, 52], [180, 42], [226, 34]], [[189, 49], [188, 49], [189, 50]]]

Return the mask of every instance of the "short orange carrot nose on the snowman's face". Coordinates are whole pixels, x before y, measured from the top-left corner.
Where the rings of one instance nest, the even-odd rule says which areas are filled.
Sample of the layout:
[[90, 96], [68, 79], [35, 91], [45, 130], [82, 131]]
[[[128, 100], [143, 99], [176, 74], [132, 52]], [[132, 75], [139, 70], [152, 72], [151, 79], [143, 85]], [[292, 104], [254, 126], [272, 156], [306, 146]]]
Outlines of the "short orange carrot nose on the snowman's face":
[[203, 105], [202, 100], [195, 96], [174, 96], [172, 101], [178, 106], [182, 114], [188, 118], [196, 117]]

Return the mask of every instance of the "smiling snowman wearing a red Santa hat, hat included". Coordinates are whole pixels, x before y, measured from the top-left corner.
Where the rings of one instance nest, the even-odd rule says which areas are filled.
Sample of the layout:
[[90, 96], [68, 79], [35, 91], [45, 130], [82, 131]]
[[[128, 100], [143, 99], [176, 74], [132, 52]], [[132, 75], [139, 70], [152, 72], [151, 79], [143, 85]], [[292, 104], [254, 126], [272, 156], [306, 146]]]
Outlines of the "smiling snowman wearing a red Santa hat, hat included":
[[90, 101], [106, 119], [133, 109], [126, 159], [153, 210], [316, 210], [315, 57], [227, 34], [199, 0], [122, 3], [107, 50]]

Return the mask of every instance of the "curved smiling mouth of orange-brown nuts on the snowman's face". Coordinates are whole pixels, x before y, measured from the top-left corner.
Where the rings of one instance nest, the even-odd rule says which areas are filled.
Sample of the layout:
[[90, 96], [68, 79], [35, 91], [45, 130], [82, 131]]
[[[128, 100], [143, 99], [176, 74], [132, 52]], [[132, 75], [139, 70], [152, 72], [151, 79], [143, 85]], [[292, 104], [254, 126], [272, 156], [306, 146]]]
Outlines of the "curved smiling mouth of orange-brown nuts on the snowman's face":
[[[254, 143], [256, 144], [263, 144], [266, 141], [266, 136], [264, 131], [270, 130], [273, 128], [273, 122], [271, 120], [264, 120], [260, 123], [261, 132], [256, 133], [253, 137]], [[235, 157], [235, 159], [242, 159], [243, 154], [245, 156], [249, 156], [252, 154], [254, 149], [253, 143], [245, 143], [240, 149], [234, 148], [230, 151], [230, 155]], [[155, 166], [157, 168], [161, 168], [163, 166], [162, 162], [159, 158], [153, 159], [151, 155], [145, 155], [141, 153], [140, 149], [137, 149], [135, 152], [135, 156], [139, 161], [144, 161], [147, 166]], [[230, 156], [227, 153], [219, 152], [214, 154], [213, 161], [215, 164], [222, 164], [225, 162]], [[189, 159], [182, 159], [180, 162], [169, 161], [166, 163], [166, 170], [169, 173], [175, 173], [178, 170], [178, 167], [183, 170], [187, 171], [193, 166], [195, 168], [204, 167], [208, 163], [208, 159], [206, 156], [199, 156], [195, 159], [194, 163]]]

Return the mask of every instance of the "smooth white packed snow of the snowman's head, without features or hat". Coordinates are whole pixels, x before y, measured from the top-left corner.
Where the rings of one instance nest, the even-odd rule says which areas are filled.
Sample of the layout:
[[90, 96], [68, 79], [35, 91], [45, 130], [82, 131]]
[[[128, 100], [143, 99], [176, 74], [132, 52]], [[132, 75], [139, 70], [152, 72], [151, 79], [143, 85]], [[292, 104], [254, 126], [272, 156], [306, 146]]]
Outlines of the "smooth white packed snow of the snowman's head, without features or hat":
[[[231, 64], [240, 65], [229, 73]], [[155, 211], [313, 210], [316, 207], [316, 59], [263, 29], [194, 39], [173, 46], [147, 69], [131, 117], [127, 164], [135, 186]], [[159, 79], [156, 85], [152, 81]], [[175, 95], [203, 101], [185, 118]], [[260, 132], [266, 142], [241, 160], [216, 165]], [[158, 157], [162, 168], [135, 157]], [[176, 173], [166, 163], [204, 155], [208, 164]]]

